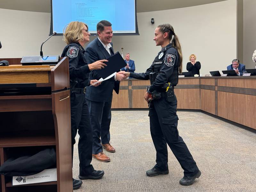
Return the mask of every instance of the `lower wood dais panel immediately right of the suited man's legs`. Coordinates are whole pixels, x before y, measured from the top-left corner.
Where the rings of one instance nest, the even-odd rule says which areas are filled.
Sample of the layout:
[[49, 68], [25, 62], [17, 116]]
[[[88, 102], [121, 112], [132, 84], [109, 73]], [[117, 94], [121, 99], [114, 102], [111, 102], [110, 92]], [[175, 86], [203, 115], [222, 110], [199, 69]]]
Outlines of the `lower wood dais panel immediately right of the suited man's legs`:
[[113, 90], [111, 108], [129, 108], [128, 90], [119, 90], [119, 94]]

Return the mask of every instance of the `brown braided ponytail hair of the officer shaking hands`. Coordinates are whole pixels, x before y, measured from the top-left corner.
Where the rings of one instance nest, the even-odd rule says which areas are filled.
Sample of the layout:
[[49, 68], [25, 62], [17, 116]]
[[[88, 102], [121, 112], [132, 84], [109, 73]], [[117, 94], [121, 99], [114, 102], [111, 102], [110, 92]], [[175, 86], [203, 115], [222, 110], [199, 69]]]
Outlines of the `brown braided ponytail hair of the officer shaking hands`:
[[[159, 31], [161, 31], [162, 33], [167, 33], [169, 40], [170, 41], [172, 40], [172, 45], [175, 49], [177, 49], [179, 56], [180, 56], [179, 72], [182, 73], [183, 56], [182, 56], [181, 46], [180, 46], [180, 41], [179, 41], [178, 36], [174, 33], [174, 29], [169, 23], [158, 25], [157, 28], [159, 28]], [[173, 38], [172, 38], [172, 36], [173, 36]]]

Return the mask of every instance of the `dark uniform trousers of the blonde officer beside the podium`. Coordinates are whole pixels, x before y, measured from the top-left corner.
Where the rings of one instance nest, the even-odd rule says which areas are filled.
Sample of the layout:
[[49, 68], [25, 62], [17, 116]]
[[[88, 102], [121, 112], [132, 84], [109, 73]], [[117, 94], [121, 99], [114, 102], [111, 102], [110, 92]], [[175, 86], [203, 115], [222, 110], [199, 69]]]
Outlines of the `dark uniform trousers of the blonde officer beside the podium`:
[[72, 143], [72, 162], [75, 137], [78, 130], [78, 155], [79, 155], [79, 174], [81, 176], [90, 175], [94, 171], [92, 162], [92, 127], [88, 106], [83, 93], [71, 93], [71, 143]]

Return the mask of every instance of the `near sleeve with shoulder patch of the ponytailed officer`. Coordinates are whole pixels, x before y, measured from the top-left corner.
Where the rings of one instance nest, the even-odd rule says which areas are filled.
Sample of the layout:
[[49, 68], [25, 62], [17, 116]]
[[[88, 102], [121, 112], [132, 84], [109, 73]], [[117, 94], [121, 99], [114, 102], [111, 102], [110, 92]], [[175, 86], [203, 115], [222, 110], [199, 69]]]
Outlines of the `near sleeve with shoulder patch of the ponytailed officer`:
[[149, 87], [149, 92], [153, 92], [163, 84], [167, 83], [172, 75], [174, 66], [178, 65], [178, 56], [173, 49], [168, 49], [164, 55], [164, 61], [160, 68], [160, 74], [156, 77], [154, 83]]

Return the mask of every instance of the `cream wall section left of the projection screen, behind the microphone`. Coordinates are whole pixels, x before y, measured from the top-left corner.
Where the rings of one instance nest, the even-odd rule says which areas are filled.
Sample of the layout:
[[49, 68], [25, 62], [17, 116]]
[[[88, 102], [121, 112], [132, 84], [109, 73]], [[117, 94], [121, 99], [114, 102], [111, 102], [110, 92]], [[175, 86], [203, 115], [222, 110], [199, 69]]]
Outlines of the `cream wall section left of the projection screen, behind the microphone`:
[[[0, 9], [0, 58], [40, 55], [42, 42], [50, 32], [50, 13]], [[65, 43], [54, 36], [43, 45], [44, 54], [61, 54]]]

